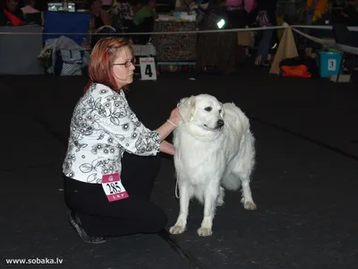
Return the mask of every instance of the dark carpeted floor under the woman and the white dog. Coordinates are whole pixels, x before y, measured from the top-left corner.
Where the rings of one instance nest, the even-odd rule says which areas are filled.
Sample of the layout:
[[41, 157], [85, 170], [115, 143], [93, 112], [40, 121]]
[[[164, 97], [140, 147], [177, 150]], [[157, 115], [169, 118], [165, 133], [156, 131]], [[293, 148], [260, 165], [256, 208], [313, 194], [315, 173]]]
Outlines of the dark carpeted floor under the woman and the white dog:
[[[175, 237], [205, 268], [352, 269], [358, 253], [358, 91], [354, 83], [284, 79], [267, 70], [233, 76], [164, 74], [134, 82], [132, 109], [157, 128], [176, 102], [199, 93], [234, 101], [251, 119], [257, 167], [247, 212], [227, 193], [214, 234], [200, 238], [202, 206]], [[67, 222], [61, 166], [72, 108], [85, 77], [1, 76], [0, 268], [7, 259], [62, 258], [58, 268], [191, 268], [158, 235], [81, 241]], [[174, 224], [175, 169], [164, 158], [152, 199]], [[354, 205], [355, 204], [355, 205]], [[51, 267], [51, 266], [50, 266]]]

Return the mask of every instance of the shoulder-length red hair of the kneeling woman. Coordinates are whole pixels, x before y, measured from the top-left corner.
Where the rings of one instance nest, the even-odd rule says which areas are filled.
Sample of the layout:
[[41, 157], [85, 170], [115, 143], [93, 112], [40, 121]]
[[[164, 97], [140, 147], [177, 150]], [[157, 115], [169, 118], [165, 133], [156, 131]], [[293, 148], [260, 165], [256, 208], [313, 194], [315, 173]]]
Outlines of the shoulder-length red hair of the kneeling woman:
[[[123, 48], [129, 48], [134, 56], [133, 48], [127, 39], [122, 38], [105, 38], [99, 39], [90, 54], [89, 76], [90, 81], [87, 83], [84, 91], [90, 88], [93, 82], [101, 83], [114, 91], [119, 91], [112, 68], [115, 58]], [[124, 86], [124, 90], [128, 87]]]

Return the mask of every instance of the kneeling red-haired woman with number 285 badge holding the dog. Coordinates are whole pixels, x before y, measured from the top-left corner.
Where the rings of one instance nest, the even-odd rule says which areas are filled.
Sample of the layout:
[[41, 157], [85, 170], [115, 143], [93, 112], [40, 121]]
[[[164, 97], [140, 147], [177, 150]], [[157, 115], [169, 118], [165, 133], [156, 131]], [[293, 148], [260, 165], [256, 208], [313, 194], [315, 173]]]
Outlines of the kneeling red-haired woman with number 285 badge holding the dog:
[[175, 108], [157, 130], [143, 126], [124, 94], [133, 71], [132, 48], [124, 39], [100, 39], [91, 53], [90, 82], [73, 111], [64, 198], [72, 227], [89, 243], [166, 226], [166, 214], [149, 196], [158, 152], [175, 152], [164, 139], [180, 116]]

